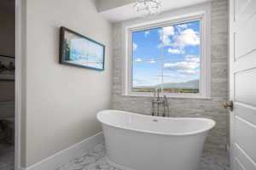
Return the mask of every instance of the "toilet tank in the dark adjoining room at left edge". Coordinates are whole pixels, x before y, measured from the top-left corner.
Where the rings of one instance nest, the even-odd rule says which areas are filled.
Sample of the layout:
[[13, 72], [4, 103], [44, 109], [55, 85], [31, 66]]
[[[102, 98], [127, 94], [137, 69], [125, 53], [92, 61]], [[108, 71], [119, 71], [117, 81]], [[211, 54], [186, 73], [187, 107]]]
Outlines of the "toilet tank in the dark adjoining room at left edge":
[[15, 116], [15, 102], [0, 102], [0, 119]]

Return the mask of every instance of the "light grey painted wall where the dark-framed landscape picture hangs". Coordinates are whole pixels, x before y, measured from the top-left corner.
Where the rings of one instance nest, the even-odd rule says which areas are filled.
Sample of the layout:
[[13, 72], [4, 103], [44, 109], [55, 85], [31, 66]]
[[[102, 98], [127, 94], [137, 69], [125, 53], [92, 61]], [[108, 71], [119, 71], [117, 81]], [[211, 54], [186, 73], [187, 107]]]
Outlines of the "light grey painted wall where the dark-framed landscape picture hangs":
[[[112, 26], [93, 0], [26, 0], [22, 167], [101, 132], [111, 107]], [[106, 45], [105, 71], [60, 65], [61, 26]]]

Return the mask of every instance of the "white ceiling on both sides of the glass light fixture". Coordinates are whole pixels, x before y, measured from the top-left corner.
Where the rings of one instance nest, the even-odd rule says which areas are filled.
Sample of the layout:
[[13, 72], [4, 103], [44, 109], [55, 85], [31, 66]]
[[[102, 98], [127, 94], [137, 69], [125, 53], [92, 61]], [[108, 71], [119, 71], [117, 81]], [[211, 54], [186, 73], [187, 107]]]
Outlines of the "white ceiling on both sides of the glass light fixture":
[[[130, 19], [139, 17], [136, 10], [133, 8], [135, 3], [131, 3], [132, 2], [131, 0], [130, 1], [119, 0], [119, 1], [124, 1], [125, 4], [122, 4], [119, 6], [113, 5], [113, 8], [110, 7], [111, 4], [113, 3], [113, 0], [97, 0], [97, 1], [98, 1], [97, 2], [98, 4], [96, 5], [101, 6], [101, 10], [99, 10], [99, 13], [102, 14], [111, 22], [119, 22], [122, 20], [130, 20]], [[188, 7], [198, 3], [206, 3], [210, 1], [211, 0], [161, 0], [163, 4], [161, 8], [161, 12], [176, 9], [176, 8]], [[133, 2], [136, 2], [136, 0], [134, 0]], [[104, 10], [104, 5], [108, 6], [108, 8], [106, 8], [105, 10]]]

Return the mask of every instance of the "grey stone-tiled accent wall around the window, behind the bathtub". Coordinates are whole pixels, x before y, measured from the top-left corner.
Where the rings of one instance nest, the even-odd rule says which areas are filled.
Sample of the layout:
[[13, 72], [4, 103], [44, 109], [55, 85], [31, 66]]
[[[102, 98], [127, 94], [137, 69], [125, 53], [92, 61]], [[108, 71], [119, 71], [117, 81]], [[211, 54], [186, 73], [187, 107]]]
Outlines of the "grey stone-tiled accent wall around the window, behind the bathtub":
[[[113, 109], [150, 114], [151, 98], [122, 95], [121, 24], [113, 24]], [[225, 155], [228, 98], [228, 2], [212, 1], [212, 99], [168, 99], [172, 116], [208, 117], [217, 122], [206, 152]]]

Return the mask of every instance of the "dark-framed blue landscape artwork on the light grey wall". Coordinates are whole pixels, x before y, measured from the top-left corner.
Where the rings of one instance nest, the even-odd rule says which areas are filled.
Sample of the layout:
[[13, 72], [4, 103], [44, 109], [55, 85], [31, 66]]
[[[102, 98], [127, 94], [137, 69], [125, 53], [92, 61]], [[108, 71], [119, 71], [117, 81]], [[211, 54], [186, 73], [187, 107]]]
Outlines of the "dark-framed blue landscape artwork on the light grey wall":
[[60, 60], [63, 65], [104, 70], [105, 46], [78, 32], [61, 27]]

